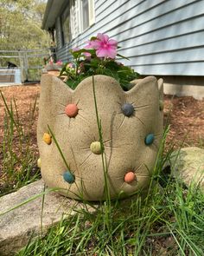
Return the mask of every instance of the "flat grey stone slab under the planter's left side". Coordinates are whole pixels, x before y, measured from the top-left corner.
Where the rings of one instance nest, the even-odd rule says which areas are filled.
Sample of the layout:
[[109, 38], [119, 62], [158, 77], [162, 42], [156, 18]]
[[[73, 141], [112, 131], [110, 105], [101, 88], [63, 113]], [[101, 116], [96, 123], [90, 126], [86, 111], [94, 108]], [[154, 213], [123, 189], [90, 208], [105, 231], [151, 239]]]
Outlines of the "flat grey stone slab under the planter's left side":
[[[41, 206], [42, 196], [31, 200], [22, 207], [5, 213], [13, 207], [22, 204], [41, 193], [44, 190], [43, 181], [35, 181], [28, 186], [22, 187], [15, 193], [4, 195], [0, 198], [0, 255], [15, 255], [23, 246], [26, 246], [29, 238], [35, 238], [45, 234], [48, 228], [59, 221], [63, 216], [67, 217], [74, 213], [74, 208], [82, 208], [84, 205], [76, 200], [70, 200], [60, 194], [49, 192], [45, 194], [42, 228]], [[46, 190], [48, 192], [48, 189]]]

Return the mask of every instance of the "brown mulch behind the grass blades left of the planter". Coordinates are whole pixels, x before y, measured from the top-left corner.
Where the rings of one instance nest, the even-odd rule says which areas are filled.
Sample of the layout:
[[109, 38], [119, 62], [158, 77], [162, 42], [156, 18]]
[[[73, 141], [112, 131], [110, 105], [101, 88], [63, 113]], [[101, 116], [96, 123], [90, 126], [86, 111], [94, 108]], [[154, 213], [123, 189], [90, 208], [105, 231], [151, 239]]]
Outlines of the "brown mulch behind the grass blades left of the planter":
[[[38, 107], [36, 106], [35, 111], [32, 114], [32, 110], [34, 109], [35, 100], [36, 98], [39, 99], [40, 95], [40, 85], [39, 84], [33, 84], [33, 85], [22, 85], [22, 86], [10, 86], [10, 87], [0, 87], [0, 91], [3, 93], [3, 97], [6, 100], [8, 107], [10, 108], [10, 102], [12, 101], [12, 108], [13, 112], [15, 113], [15, 119], [16, 119], [16, 109], [13, 99], [16, 100], [16, 108], [19, 115], [20, 123], [22, 124], [22, 128], [25, 131], [25, 136], [23, 140], [24, 145], [22, 145], [22, 151], [19, 150], [19, 139], [18, 135], [16, 133], [16, 128], [14, 128], [14, 135], [13, 135], [13, 142], [12, 145], [15, 145], [14, 148], [12, 148], [12, 151], [15, 152], [18, 157], [20, 154], [24, 154], [24, 152], [27, 150], [26, 148], [29, 147], [29, 150], [32, 152], [32, 154], [35, 155], [35, 157], [38, 157], [38, 148], [36, 143], [36, 122], [37, 122], [37, 115], [38, 115]], [[8, 113], [7, 113], [8, 114]], [[3, 139], [3, 130], [7, 130], [4, 128], [4, 126], [7, 126], [6, 118], [5, 118], [5, 106], [3, 103], [3, 98], [0, 95], [0, 187], [3, 183], [3, 177], [1, 174], [3, 174], [3, 150], [2, 145], [3, 141], [7, 141], [5, 139], [7, 137], [5, 132], [5, 138]], [[10, 130], [10, 129], [9, 129]], [[8, 132], [8, 131], [7, 131]], [[10, 135], [9, 135], [10, 137]], [[29, 144], [28, 141], [26, 142], [26, 139], [28, 140], [30, 138]], [[7, 143], [8, 145], [8, 143]], [[8, 148], [8, 146], [7, 146]], [[25, 155], [25, 154], [24, 154]], [[10, 158], [10, 153], [8, 152], [8, 159]], [[15, 171], [20, 169], [20, 163], [16, 163]]]

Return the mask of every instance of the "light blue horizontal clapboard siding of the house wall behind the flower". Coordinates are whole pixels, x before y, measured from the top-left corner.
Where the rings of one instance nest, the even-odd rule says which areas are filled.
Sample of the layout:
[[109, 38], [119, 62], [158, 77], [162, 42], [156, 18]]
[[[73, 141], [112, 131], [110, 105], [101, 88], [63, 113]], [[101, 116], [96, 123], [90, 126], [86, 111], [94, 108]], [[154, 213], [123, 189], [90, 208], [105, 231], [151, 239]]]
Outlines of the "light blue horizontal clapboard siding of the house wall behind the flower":
[[63, 46], [57, 36], [57, 57], [69, 60], [69, 49], [101, 32], [142, 75], [204, 75], [203, 10], [203, 0], [95, 0], [95, 23]]

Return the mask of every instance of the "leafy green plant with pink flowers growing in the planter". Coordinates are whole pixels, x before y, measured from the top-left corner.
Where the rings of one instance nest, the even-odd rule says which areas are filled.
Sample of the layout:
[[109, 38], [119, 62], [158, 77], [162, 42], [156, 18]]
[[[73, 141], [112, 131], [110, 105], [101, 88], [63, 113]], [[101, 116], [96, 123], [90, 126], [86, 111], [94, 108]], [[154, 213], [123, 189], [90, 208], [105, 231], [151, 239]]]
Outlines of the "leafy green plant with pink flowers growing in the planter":
[[67, 85], [75, 89], [77, 85], [90, 75], [108, 75], [115, 78], [124, 90], [128, 90], [130, 82], [139, 74], [123, 63], [116, 61], [118, 43], [104, 34], [98, 34], [87, 42], [84, 49], [75, 48], [70, 52], [73, 62], [67, 62], [60, 75], [67, 76]]

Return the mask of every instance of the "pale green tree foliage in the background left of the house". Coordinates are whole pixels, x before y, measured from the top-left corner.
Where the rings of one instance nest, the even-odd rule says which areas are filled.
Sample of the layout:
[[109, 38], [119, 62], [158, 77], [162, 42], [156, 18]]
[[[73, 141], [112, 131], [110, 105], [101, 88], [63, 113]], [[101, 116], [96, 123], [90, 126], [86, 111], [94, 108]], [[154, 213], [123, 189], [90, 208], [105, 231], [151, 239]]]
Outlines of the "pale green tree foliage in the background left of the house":
[[[0, 1], [0, 49], [39, 49], [49, 46], [48, 32], [41, 30], [46, 7], [42, 0]], [[0, 59], [0, 66], [6, 60]]]

